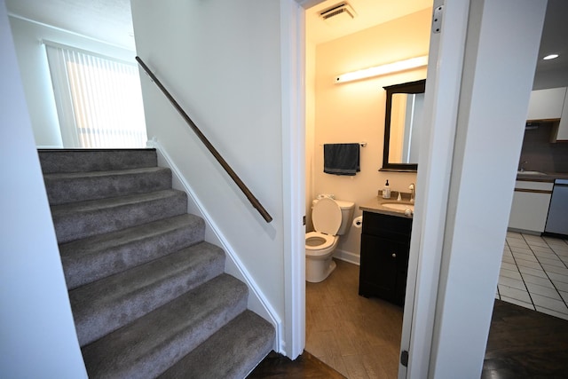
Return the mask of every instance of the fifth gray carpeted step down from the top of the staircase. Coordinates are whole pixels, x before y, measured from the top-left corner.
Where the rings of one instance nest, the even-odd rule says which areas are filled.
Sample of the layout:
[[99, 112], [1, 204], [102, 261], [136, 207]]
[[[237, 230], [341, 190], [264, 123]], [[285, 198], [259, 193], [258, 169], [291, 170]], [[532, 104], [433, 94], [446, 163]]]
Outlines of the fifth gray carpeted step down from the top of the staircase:
[[81, 346], [151, 312], [225, 270], [225, 253], [201, 242], [69, 291]]

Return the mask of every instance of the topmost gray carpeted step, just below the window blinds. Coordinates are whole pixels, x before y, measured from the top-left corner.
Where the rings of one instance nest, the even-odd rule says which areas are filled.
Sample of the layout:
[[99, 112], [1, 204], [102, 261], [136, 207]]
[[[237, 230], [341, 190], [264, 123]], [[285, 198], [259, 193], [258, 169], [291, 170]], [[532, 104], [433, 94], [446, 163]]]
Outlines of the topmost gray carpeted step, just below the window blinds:
[[128, 170], [155, 167], [155, 149], [54, 149], [38, 150], [43, 174]]

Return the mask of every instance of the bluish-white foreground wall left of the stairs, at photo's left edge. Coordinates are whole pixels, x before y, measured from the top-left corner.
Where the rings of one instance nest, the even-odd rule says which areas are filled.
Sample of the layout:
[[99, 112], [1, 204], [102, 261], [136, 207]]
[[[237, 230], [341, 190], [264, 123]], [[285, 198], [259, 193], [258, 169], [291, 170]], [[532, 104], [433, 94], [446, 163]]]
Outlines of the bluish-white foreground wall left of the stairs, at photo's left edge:
[[4, 0], [0, 56], [0, 376], [86, 378]]

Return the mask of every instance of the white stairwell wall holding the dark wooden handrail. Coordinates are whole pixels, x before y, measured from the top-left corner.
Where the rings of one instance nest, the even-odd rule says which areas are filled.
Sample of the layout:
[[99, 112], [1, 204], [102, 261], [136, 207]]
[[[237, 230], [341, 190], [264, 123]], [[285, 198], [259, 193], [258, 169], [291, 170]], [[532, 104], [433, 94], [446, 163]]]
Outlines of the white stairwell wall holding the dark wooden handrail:
[[280, 4], [140, 0], [132, 3], [132, 16], [138, 56], [263, 203], [272, 223], [252, 208], [154, 83], [141, 75], [148, 138], [164, 146], [283, 320], [289, 252], [283, 248], [282, 221]]

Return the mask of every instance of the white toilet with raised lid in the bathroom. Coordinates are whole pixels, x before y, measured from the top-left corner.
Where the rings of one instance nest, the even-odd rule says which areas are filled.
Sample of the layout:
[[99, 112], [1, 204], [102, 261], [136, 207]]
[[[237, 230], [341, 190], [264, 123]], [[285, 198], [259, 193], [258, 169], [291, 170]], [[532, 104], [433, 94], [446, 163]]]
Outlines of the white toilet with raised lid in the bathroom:
[[305, 280], [318, 283], [335, 269], [331, 257], [339, 236], [347, 232], [351, 225], [355, 203], [327, 197], [312, 203], [315, 232], [305, 234]]

